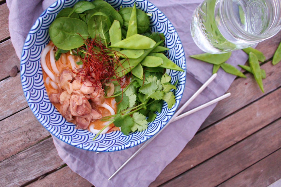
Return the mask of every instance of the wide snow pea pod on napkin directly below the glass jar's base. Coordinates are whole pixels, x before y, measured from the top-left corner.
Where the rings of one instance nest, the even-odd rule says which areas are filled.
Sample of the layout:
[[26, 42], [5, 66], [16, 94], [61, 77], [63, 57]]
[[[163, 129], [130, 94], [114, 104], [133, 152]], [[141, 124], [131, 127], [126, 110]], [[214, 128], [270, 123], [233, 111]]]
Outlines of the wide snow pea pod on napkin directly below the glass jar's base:
[[219, 65], [219, 64], [227, 61], [227, 59], [229, 59], [230, 55], [231, 55], [231, 52], [223, 53], [223, 54], [203, 53], [203, 54], [190, 55], [190, 57], [198, 59], [198, 60], [202, 60], [204, 62], [209, 62], [211, 64]]

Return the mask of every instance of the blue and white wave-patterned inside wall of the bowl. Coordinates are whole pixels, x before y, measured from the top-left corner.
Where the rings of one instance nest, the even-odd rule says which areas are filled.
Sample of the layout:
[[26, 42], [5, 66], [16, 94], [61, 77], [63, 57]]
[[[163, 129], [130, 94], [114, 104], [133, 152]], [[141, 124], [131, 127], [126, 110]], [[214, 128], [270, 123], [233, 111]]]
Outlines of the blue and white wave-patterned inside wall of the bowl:
[[[157, 113], [155, 121], [148, 124], [148, 128], [142, 132], [134, 132], [125, 136], [120, 131], [95, 136], [87, 130], [75, 129], [73, 123], [67, 122], [65, 118], [50, 103], [44, 87], [42, 68], [40, 64], [40, 54], [48, 44], [50, 37], [48, 28], [55, 19], [56, 14], [63, 8], [72, 7], [78, 0], [59, 0], [46, 9], [32, 26], [24, 44], [21, 58], [21, 79], [24, 95], [35, 117], [42, 125], [55, 137], [75, 147], [90, 151], [118, 151], [138, 145], [153, 135], [155, 135], [171, 119], [173, 113], [179, 105], [184, 91], [186, 80], [185, 72], [174, 70], [169, 71], [172, 83], [177, 80], [177, 90], [175, 91], [176, 103], [171, 108], [167, 108], [164, 102], [161, 113]], [[132, 7], [134, 0], [108, 0], [114, 8]], [[179, 37], [167, 17], [146, 0], [136, 1], [136, 7], [147, 13], [152, 13], [150, 17], [153, 32], [163, 32], [169, 50], [169, 58], [182, 69], [186, 69], [184, 51]]]

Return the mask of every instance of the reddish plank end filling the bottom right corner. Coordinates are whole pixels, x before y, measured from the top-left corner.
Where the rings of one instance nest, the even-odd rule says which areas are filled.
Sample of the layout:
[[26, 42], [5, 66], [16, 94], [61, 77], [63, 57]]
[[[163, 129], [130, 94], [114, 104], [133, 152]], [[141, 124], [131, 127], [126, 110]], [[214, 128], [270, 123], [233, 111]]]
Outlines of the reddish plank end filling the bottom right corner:
[[[219, 187], [264, 187], [281, 178], [281, 149], [223, 182]], [[275, 162], [273, 162], [275, 161]]]

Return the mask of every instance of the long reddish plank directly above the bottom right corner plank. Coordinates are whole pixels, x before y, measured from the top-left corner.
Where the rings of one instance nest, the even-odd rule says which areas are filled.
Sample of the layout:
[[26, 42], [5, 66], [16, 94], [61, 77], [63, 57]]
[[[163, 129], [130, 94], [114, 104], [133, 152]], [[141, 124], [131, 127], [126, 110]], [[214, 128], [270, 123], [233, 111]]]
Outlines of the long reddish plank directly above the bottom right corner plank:
[[[220, 184], [279, 149], [281, 147], [280, 125], [281, 120], [268, 125], [163, 186], [216, 186]], [[280, 158], [278, 160], [280, 161]], [[272, 160], [272, 162], [277, 162], [277, 160]]]

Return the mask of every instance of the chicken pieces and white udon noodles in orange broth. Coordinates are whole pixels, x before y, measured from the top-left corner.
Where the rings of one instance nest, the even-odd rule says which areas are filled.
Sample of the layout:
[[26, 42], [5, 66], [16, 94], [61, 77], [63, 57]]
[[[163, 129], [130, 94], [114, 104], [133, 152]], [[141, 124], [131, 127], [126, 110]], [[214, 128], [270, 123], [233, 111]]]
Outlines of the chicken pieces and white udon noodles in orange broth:
[[[75, 74], [83, 67], [76, 63], [80, 61], [79, 56], [67, 52], [56, 61], [54, 53], [52, 42], [41, 53], [43, 80], [50, 102], [77, 129], [98, 133], [109, 123], [101, 118], [116, 114], [114, 97], [105, 98], [101, 84], [94, 85], [89, 78]], [[102, 133], [114, 130], [120, 129], [112, 123]]]

